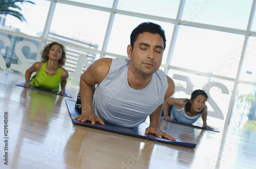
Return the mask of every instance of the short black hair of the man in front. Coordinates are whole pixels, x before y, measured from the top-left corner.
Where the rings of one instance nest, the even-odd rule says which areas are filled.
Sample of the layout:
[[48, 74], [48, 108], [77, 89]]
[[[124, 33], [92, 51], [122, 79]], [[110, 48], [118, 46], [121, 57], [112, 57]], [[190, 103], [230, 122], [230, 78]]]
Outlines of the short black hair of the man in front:
[[166, 45], [166, 39], [165, 39], [165, 34], [164, 34], [164, 30], [162, 29], [162, 27], [159, 24], [153, 23], [153, 22], [143, 22], [140, 23], [132, 32], [131, 36], [130, 36], [130, 40], [131, 40], [131, 46], [133, 49], [134, 46], [134, 42], [137, 40], [139, 34], [142, 34], [144, 32], [149, 32], [152, 34], [159, 34], [162, 38], [163, 38], [163, 50], [165, 49], [165, 45]]

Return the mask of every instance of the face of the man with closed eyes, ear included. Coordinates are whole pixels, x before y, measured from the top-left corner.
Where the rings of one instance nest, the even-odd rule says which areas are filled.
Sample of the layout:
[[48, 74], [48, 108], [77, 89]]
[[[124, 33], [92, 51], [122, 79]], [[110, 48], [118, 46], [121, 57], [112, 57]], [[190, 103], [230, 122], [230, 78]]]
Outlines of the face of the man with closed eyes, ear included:
[[127, 47], [130, 65], [136, 73], [150, 75], [156, 72], [163, 57], [164, 42], [159, 34], [144, 32], [139, 34], [138, 39]]

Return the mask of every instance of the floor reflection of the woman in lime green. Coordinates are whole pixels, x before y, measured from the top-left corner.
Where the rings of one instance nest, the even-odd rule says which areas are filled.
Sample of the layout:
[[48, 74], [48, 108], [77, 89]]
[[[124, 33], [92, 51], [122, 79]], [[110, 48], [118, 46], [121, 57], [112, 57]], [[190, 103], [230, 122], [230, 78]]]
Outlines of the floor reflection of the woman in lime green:
[[[23, 89], [18, 102], [18, 107], [22, 107], [22, 110], [16, 111], [17, 116], [20, 117], [18, 118], [20, 122], [17, 122], [20, 123], [20, 128], [15, 131], [18, 141], [15, 147], [14, 161], [25, 157], [24, 154], [21, 154], [22, 149], [27, 149], [30, 152], [30, 149], [36, 148], [36, 145], [45, 143], [45, 138], [50, 136], [49, 123], [53, 117], [58, 118], [62, 99], [62, 96]], [[19, 166], [17, 163], [12, 163], [12, 168], [19, 168]]]

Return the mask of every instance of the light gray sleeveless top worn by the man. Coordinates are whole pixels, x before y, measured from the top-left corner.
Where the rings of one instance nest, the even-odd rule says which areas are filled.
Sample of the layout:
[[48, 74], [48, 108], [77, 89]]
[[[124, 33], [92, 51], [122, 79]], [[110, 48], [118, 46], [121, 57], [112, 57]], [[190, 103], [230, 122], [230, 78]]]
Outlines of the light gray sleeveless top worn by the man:
[[108, 75], [95, 89], [93, 111], [104, 122], [137, 127], [163, 104], [168, 83], [165, 73], [158, 70], [144, 89], [131, 88], [127, 81], [129, 63], [130, 59], [112, 59]]

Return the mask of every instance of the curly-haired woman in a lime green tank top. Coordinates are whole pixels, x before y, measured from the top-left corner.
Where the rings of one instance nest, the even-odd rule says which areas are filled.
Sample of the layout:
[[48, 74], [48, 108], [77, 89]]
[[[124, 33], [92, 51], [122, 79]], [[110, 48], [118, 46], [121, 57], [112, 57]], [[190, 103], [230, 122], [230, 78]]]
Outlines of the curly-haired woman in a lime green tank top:
[[[42, 62], [34, 63], [25, 73], [25, 87], [37, 87], [39, 89], [52, 92], [59, 92], [61, 95], [67, 95], [65, 92], [69, 73], [62, 68], [66, 61], [65, 47], [53, 42], [48, 44], [41, 53]], [[36, 75], [31, 79], [33, 72]], [[59, 85], [61, 91], [59, 91]]]

